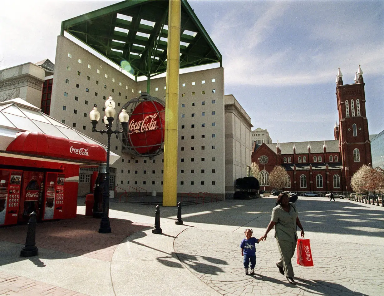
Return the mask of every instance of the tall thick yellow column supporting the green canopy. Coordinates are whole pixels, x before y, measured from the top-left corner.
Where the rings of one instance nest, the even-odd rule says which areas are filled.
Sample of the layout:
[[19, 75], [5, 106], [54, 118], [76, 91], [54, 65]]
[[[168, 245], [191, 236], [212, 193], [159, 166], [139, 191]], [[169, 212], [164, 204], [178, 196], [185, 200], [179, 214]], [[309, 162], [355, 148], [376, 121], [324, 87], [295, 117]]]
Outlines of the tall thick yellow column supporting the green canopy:
[[177, 125], [179, 117], [180, 0], [169, 0], [163, 205], [177, 201]]

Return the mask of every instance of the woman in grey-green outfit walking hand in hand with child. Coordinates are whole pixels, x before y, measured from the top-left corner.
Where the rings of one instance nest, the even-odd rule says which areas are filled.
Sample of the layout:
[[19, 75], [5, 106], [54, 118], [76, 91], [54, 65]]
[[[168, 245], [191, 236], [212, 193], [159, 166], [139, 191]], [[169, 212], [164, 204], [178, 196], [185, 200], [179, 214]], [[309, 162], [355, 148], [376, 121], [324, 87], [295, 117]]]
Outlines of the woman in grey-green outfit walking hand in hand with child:
[[280, 273], [285, 275], [288, 282], [296, 284], [293, 279], [292, 257], [295, 255], [297, 242], [296, 225], [304, 238], [303, 226], [300, 223], [296, 206], [289, 202], [288, 194], [281, 192], [277, 198], [278, 205], [272, 210], [271, 222], [260, 240], [266, 240], [268, 232], [275, 226], [275, 238], [280, 252], [280, 260], [276, 263]]

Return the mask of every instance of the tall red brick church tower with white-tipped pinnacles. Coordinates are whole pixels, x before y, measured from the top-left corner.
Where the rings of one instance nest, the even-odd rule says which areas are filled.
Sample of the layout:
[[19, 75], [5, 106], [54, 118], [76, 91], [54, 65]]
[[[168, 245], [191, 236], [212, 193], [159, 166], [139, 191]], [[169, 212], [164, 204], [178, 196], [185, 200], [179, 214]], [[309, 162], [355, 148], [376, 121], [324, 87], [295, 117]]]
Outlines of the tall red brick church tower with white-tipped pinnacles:
[[[351, 177], [364, 164], [372, 162], [362, 70], [355, 73], [354, 84], [343, 84], [340, 68], [336, 78], [336, 98], [339, 113], [339, 147], [343, 191], [351, 192]], [[335, 129], [336, 130], [336, 129]]]

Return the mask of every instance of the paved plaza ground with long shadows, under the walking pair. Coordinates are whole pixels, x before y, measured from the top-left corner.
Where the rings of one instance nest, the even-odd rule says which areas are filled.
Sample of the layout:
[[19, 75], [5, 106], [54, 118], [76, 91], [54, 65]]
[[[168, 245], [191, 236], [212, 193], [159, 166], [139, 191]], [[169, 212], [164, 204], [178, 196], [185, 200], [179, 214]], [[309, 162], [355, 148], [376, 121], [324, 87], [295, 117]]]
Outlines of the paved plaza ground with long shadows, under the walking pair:
[[[244, 229], [260, 237], [275, 200], [190, 205], [182, 209], [184, 225], [174, 224], [176, 208], [161, 207], [163, 235], [149, 227], [153, 206], [114, 202], [113, 234], [98, 234], [99, 221], [81, 215], [73, 220], [88, 225], [81, 230], [75, 224], [66, 227], [64, 220], [38, 224], [38, 231], [60, 225], [42, 238], [44, 247], [36, 238], [39, 255], [29, 259], [19, 257], [25, 226], [0, 229], [0, 295], [384, 294], [384, 209], [348, 200], [299, 197], [296, 205], [311, 239], [314, 267], [298, 266], [293, 258], [297, 286], [276, 268], [273, 231], [257, 246], [256, 275], [245, 276], [239, 248]], [[80, 250], [63, 244], [63, 232], [69, 241], [80, 236]]]

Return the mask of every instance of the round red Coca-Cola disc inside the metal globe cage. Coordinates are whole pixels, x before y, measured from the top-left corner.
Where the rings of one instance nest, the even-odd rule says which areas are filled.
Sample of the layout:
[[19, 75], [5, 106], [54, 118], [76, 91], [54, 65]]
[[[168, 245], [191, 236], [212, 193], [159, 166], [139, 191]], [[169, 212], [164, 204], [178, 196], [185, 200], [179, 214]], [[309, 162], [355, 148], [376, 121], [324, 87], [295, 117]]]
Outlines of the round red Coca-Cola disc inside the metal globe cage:
[[133, 110], [128, 122], [129, 142], [139, 154], [151, 154], [164, 142], [165, 108], [156, 101], [144, 101]]

